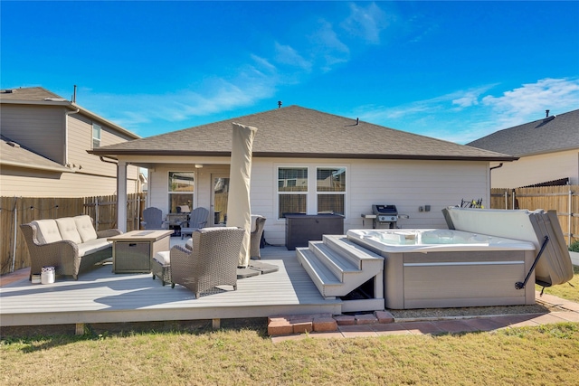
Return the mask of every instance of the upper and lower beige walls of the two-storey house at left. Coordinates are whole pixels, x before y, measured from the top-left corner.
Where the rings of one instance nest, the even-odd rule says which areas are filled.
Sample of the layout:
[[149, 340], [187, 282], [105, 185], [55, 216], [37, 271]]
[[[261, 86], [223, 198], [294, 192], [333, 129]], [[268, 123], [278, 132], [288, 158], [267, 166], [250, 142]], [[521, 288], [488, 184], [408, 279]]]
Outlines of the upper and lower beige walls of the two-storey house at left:
[[[60, 106], [2, 105], [1, 131], [21, 146], [61, 165], [74, 173], [54, 173], [3, 166], [0, 170], [0, 195], [23, 197], [85, 197], [116, 194], [117, 166], [90, 155], [92, 119]], [[68, 119], [68, 122], [67, 122]], [[103, 123], [101, 146], [131, 139]], [[66, 135], [68, 133], [68, 136]], [[127, 168], [127, 192], [140, 192], [138, 167]]]

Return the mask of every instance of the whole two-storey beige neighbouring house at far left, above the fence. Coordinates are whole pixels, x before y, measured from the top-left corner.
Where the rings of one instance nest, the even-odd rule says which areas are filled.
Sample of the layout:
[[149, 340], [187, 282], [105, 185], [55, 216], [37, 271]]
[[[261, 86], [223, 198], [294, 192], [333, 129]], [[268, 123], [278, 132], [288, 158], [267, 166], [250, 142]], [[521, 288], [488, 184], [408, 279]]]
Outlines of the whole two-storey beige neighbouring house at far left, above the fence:
[[[0, 196], [87, 197], [115, 194], [114, 160], [87, 150], [139, 138], [41, 87], [0, 90]], [[140, 192], [138, 166], [127, 192]]]

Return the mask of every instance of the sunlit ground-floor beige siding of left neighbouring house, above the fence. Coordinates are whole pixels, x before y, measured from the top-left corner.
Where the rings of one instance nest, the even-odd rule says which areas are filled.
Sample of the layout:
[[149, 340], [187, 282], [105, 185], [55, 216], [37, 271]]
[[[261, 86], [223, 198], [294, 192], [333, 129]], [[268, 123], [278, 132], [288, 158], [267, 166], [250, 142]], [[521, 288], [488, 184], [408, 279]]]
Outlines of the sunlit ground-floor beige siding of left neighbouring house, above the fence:
[[[17, 173], [16, 173], [17, 172]], [[18, 174], [18, 175], [15, 175]], [[127, 181], [127, 192], [136, 193], [138, 182]], [[0, 196], [91, 197], [117, 193], [117, 178], [81, 173], [36, 173], [3, 166]]]

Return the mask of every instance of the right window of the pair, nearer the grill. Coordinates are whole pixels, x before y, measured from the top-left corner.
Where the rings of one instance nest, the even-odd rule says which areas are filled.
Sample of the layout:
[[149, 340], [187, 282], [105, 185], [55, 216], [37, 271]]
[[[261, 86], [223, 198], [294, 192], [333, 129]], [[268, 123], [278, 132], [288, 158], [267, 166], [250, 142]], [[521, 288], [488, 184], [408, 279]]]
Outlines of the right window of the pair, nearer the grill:
[[318, 167], [316, 171], [318, 213], [344, 215], [346, 202], [346, 168]]

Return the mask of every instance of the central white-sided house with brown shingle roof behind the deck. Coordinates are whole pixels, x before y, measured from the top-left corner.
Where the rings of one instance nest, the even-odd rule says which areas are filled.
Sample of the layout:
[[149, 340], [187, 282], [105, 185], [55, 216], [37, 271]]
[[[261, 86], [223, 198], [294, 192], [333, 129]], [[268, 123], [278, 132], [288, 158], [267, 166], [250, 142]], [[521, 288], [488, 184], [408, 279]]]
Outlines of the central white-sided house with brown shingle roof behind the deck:
[[[213, 225], [223, 222], [227, 208], [233, 122], [258, 128], [252, 147], [252, 212], [267, 218], [265, 237], [275, 245], [285, 243], [287, 212], [341, 213], [346, 231], [371, 228], [372, 221], [362, 214], [372, 213], [372, 204], [388, 204], [409, 216], [398, 226], [446, 228], [442, 208], [462, 199], [489, 202], [489, 163], [517, 159], [299, 106], [90, 153], [118, 159], [119, 178], [124, 165], [147, 167], [147, 206], [165, 214], [182, 204], [204, 206], [214, 212]], [[122, 202], [118, 207], [122, 210]]]

